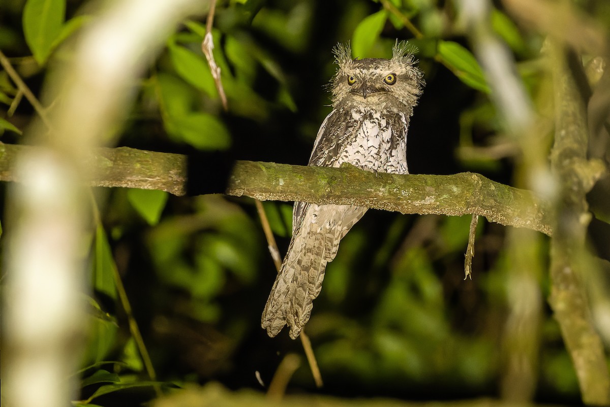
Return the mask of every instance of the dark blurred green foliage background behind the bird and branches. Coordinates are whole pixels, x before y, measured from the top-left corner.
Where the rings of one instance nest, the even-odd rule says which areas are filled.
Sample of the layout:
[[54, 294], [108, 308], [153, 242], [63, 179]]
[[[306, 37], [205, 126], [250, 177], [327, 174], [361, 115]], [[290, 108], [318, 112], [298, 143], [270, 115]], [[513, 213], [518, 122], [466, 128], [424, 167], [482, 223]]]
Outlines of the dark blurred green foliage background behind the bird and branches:
[[[590, 3], [603, 22], [608, 6]], [[398, 13], [370, 0], [220, 2], [213, 55], [229, 111], [222, 111], [201, 51], [205, 20], [193, 18], [151, 62], [119, 143], [167, 152], [232, 150], [237, 158], [304, 164], [329, 113], [322, 85], [334, 71], [332, 47], [351, 41], [354, 57], [388, 57], [397, 38], [410, 38], [427, 82], [409, 132], [412, 172], [481, 171], [511, 182], [518, 159], [514, 140], [498, 123], [454, 4], [391, 4]], [[95, 8], [79, 0], [5, 0], [2, 7], [0, 48], [36, 94], [53, 64], [71, 57], [70, 46], [60, 44], [96, 18]], [[421, 31], [417, 39], [405, 19]], [[541, 36], [522, 30], [499, 8], [490, 19], [536, 96]], [[0, 104], [11, 107], [17, 94], [1, 72]], [[0, 129], [9, 130], [3, 141], [18, 142], [34, 115], [21, 103], [0, 118]], [[90, 328], [78, 372], [82, 400], [74, 405], [113, 405], [140, 388], [139, 401], [154, 397], [156, 383], [146, 377], [142, 344], [130, 329], [134, 320], [162, 383], [220, 380], [231, 388], [259, 388], [255, 371], [268, 383], [278, 355], [301, 352], [284, 332], [270, 339], [259, 328], [275, 271], [251, 200], [117, 189], [99, 205], [90, 252], [93, 297], [84, 299]], [[292, 207], [265, 202], [264, 208], [285, 250]], [[469, 217], [369, 211], [346, 236], [307, 325], [326, 392], [498, 394], [508, 313], [504, 286], [512, 266], [504, 229], [484, 224], [473, 280], [462, 281], [469, 224]], [[132, 315], [118, 296], [118, 275]], [[542, 281], [540, 289], [546, 285]], [[548, 310], [543, 319], [535, 344], [539, 397], [577, 400], [559, 329]], [[306, 366], [296, 372], [292, 388], [313, 388]]]

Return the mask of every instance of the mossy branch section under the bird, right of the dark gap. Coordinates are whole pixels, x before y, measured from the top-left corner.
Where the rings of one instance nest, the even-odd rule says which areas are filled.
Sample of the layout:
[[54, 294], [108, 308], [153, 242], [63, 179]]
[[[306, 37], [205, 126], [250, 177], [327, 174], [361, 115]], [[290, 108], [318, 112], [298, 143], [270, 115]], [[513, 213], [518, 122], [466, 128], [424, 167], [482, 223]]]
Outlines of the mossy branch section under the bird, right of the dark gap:
[[229, 195], [260, 200], [303, 200], [397, 211], [478, 214], [502, 225], [551, 235], [550, 206], [531, 191], [493, 182], [483, 175], [398, 175], [354, 166], [324, 168], [237, 161]]

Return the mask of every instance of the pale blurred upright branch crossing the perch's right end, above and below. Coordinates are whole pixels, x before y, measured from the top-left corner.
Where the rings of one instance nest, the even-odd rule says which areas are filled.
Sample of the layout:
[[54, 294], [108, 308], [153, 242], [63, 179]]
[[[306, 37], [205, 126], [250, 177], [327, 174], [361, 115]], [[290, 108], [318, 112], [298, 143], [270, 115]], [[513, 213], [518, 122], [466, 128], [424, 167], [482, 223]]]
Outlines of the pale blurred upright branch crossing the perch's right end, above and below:
[[[519, 152], [520, 159], [514, 163], [514, 185], [548, 196], [548, 131], [541, 128], [545, 121], [536, 117], [511, 49], [493, 29], [492, 1], [461, 0], [457, 4], [461, 5], [459, 19], [491, 89], [490, 98]], [[545, 267], [541, 241], [542, 236], [531, 230], [511, 228], [506, 232], [506, 251], [511, 259], [507, 267], [511, 269], [503, 281], [506, 319], [501, 335], [500, 394], [511, 402], [528, 403], [536, 394], [542, 315], [538, 278]]]

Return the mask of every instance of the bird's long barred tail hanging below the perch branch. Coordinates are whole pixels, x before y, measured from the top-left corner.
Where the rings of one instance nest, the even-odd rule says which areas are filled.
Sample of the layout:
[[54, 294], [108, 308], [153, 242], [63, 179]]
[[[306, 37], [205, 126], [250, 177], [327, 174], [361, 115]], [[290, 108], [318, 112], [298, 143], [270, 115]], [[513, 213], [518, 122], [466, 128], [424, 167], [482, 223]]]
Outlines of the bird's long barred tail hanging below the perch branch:
[[366, 211], [352, 205], [303, 208], [261, 318], [269, 336], [276, 336], [284, 325], [290, 327], [290, 338], [299, 336], [320, 294], [326, 263], [335, 258], [339, 241]]

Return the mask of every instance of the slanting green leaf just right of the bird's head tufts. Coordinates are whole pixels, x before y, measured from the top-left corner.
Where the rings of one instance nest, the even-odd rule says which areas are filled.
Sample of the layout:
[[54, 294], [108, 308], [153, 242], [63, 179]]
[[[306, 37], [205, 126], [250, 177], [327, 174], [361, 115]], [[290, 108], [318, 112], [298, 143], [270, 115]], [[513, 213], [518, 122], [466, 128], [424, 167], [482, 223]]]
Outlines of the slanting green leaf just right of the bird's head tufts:
[[462, 82], [471, 88], [489, 93], [483, 69], [468, 49], [453, 41], [439, 41], [438, 52], [445, 66]]

